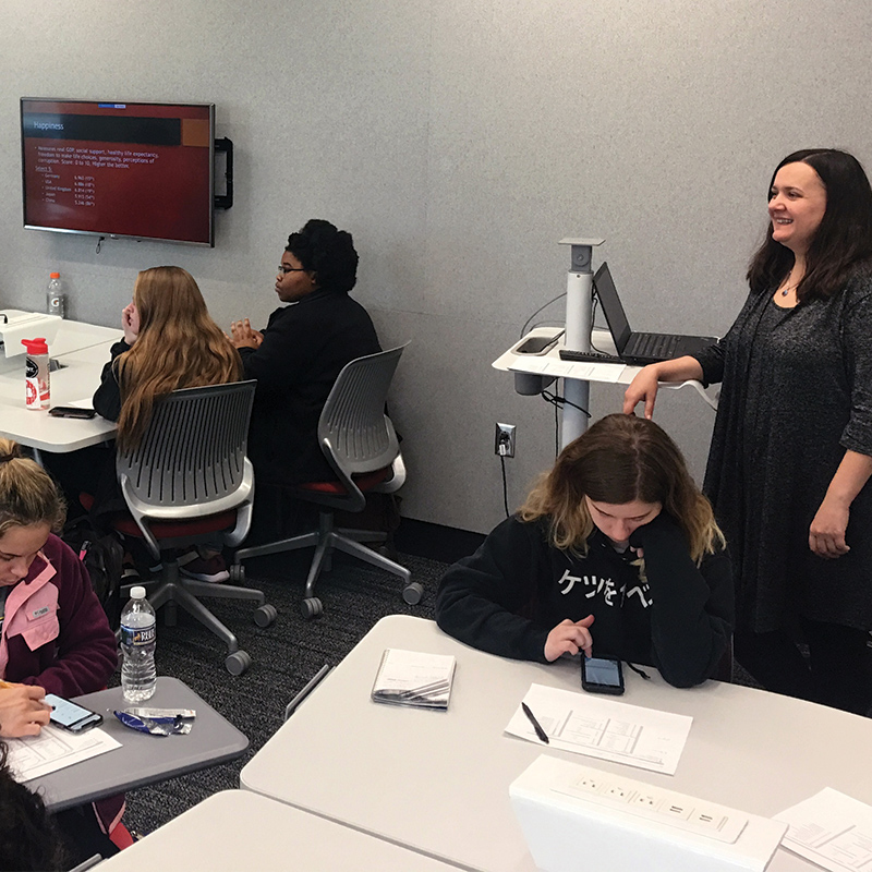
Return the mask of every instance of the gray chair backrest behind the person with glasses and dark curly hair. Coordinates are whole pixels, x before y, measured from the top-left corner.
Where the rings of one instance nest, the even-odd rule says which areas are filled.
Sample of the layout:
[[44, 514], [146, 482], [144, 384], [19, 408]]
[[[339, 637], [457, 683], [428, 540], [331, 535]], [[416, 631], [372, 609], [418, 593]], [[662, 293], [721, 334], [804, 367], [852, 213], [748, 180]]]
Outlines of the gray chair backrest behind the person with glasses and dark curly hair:
[[399, 455], [385, 401], [404, 349], [358, 358], [337, 376], [318, 421], [318, 441], [338, 471], [347, 475], [374, 472], [389, 467]]

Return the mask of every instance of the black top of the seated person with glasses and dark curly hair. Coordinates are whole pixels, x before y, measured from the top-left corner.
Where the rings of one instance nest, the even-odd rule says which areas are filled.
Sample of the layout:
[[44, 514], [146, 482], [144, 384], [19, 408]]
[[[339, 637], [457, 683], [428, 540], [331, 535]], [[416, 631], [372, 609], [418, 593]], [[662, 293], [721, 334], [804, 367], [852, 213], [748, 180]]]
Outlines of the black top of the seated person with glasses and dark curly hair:
[[258, 482], [336, 480], [318, 417], [342, 367], [380, 350], [370, 315], [347, 293], [318, 290], [269, 316], [261, 347], [240, 349], [245, 378], [257, 379], [249, 457]]

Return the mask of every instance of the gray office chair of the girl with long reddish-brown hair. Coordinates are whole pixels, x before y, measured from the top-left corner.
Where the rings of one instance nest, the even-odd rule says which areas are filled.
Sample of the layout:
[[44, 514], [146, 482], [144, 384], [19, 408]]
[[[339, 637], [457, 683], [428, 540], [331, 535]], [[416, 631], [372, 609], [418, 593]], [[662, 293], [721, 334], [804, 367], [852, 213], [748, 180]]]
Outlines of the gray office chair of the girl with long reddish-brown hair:
[[[181, 577], [180, 548], [214, 541], [239, 545], [247, 535], [254, 499], [254, 471], [245, 457], [255, 382], [175, 390], [155, 403], [140, 445], [119, 452], [116, 461], [121, 492], [130, 516], [112, 519], [120, 533], [144, 540], [161, 562], [160, 576], [144, 582], [148, 602], [165, 607], [168, 626], [175, 606], [211, 630], [227, 645], [225, 666], [242, 675], [251, 657], [237, 637], [198, 597], [250, 600], [257, 604], [254, 620], [268, 627], [276, 609], [262, 591], [213, 584]], [[234, 581], [243, 581], [237, 568]], [[133, 585], [122, 588], [129, 595]]]

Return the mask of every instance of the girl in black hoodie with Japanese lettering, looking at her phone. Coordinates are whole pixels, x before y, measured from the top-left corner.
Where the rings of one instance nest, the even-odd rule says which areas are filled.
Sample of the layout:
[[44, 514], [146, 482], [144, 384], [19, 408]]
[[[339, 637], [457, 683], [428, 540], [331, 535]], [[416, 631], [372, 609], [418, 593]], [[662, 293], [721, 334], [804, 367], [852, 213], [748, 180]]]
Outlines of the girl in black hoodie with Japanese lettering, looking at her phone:
[[505, 657], [564, 654], [710, 678], [732, 632], [724, 537], [675, 443], [652, 421], [604, 417], [568, 445], [517, 516], [451, 567], [439, 627]]

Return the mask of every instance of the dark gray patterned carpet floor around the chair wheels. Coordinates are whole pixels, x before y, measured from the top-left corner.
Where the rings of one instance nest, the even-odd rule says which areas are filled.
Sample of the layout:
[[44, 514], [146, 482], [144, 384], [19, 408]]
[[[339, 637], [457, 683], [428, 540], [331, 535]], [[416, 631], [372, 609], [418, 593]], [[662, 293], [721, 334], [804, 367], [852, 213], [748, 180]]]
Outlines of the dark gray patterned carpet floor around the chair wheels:
[[[148, 833], [217, 790], [239, 787], [239, 773], [252, 755], [281, 726], [287, 703], [325, 664], [338, 664], [385, 615], [433, 617], [436, 585], [445, 564], [402, 555], [399, 561], [424, 586], [417, 606], [402, 600], [402, 580], [343, 555], [323, 577], [317, 593], [324, 614], [305, 620], [300, 614], [312, 549], [261, 557], [246, 562], [246, 584], [264, 591], [278, 609], [271, 627], [259, 629], [252, 620], [251, 604], [228, 600], [206, 601], [208, 607], [239, 638], [254, 663], [243, 676], [223, 667], [225, 647], [181, 609], [175, 627], [158, 617], [158, 675], [173, 676], [193, 688], [251, 742], [233, 763], [192, 773], [128, 794], [124, 823]], [[116, 675], [113, 685], [119, 683]]]

